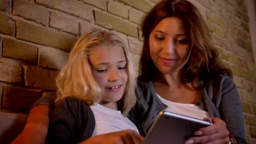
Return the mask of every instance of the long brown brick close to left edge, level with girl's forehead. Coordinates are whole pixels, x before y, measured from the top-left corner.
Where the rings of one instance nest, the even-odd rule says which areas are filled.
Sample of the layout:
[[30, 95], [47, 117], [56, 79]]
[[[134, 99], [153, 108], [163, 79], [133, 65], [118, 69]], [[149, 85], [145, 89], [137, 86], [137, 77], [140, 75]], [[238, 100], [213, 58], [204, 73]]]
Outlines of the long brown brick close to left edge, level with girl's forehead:
[[22, 43], [18, 40], [3, 38], [2, 56], [36, 63], [37, 46]]

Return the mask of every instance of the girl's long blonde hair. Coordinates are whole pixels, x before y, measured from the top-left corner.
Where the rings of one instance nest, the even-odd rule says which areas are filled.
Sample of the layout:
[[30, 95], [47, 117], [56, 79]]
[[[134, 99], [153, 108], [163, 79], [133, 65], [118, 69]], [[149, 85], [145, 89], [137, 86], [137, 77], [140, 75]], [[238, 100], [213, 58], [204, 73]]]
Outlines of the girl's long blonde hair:
[[82, 35], [69, 53], [66, 64], [56, 77], [56, 104], [67, 97], [82, 100], [88, 105], [94, 105], [102, 100], [103, 92], [91, 74], [88, 54], [91, 49], [104, 46], [118, 46], [123, 49], [126, 57], [128, 79], [124, 95], [118, 101], [118, 110], [127, 116], [136, 103], [136, 73], [131, 63], [130, 52], [116, 34], [100, 29]]

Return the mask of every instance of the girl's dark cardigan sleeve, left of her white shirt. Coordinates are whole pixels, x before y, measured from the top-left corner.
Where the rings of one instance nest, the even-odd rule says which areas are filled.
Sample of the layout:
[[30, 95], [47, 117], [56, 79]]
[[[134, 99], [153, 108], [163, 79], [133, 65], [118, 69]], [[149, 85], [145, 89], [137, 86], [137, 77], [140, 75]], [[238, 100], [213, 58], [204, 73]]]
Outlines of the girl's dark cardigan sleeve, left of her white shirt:
[[90, 107], [83, 101], [66, 98], [53, 110], [46, 143], [78, 143], [91, 137], [94, 127]]

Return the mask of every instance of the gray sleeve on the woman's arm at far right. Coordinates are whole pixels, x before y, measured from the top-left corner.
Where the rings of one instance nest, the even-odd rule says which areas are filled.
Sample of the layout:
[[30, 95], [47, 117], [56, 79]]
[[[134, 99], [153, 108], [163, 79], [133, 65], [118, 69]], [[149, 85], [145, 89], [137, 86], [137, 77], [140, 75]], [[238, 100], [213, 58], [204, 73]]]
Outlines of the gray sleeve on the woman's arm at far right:
[[236, 85], [231, 77], [226, 76], [222, 82], [222, 100], [219, 105], [220, 117], [238, 143], [246, 143], [242, 104]]

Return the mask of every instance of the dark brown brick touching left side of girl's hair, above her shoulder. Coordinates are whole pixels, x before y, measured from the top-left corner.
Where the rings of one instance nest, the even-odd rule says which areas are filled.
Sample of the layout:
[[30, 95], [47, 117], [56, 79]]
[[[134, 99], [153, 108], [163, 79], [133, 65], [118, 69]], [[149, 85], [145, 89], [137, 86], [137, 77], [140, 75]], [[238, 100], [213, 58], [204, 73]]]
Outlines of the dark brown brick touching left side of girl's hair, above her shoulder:
[[49, 89], [56, 91], [57, 86], [55, 78], [58, 74], [57, 71], [45, 70], [35, 66], [24, 65], [24, 79], [25, 86]]

